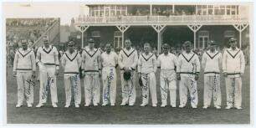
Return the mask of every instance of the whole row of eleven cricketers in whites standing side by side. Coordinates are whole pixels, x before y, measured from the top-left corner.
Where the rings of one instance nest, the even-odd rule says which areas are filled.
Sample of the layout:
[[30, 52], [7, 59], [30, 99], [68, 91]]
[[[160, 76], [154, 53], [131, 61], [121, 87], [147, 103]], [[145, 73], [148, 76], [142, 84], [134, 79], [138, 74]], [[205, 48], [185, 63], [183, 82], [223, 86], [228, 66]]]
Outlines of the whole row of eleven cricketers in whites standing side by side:
[[[27, 101], [28, 107], [33, 105], [33, 80], [36, 65], [39, 68], [39, 103], [36, 107], [42, 107], [49, 100], [53, 107], [58, 107], [56, 75], [59, 74], [58, 51], [49, 45], [49, 38], [44, 37], [44, 46], [38, 48], [36, 56], [28, 49], [28, 42], [22, 40], [22, 48], [15, 54], [13, 75], [17, 76], [18, 104], [23, 105]], [[170, 53], [169, 44], [163, 44], [163, 53], [157, 58], [151, 53], [150, 44], [144, 44], [144, 52], [137, 53], [131, 48], [131, 40], [125, 40], [125, 48], [117, 55], [111, 51], [111, 44], [105, 44], [105, 51], [95, 49], [95, 41], [90, 38], [89, 46], [85, 47], [82, 54], [74, 49], [74, 42], [68, 43], [67, 51], [62, 55], [60, 64], [64, 68], [65, 105], [71, 104], [72, 89], [74, 90], [74, 105], [79, 107], [81, 103], [81, 84], [79, 68], [82, 69], [84, 78], [84, 106], [100, 105], [115, 106], [116, 79], [121, 80], [122, 102], [120, 105], [133, 106], [136, 103], [137, 81], [142, 90], [141, 106], [146, 106], [151, 97], [153, 107], [157, 106], [156, 94], [156, 69], [160, 69], [161, 107], [166, 107], [168, 95], [170, 105], [177, 107], [177, 82], [179, 82], [179, 107], [191, 102], [192, 108], [197, 108], [197, 79], [203, 69], [204, 93], [203, 107], [207, 109], [211, 100], [214, 107], [221, 109], [222, 96], [220, 87], [220, 74], [223, 74], [226, 84], [227, 106], [226, 109], [242, 109], [242, 79], [245, 63], [243, 52], [237, 48], [236, 38], [230, 38], [229, 49], [221, 54], [216, 50], [214, 41], [208, 43], [209, 49], [202, 55], [202, 62], [197, 54], [192, 52], [192, 43], [186, 41], [183, 52], [178, 57]], [[201, 65], [202, 64], [202, 65]], [[120, 76], [116, 74], [116, 67], [120, 66]], [[138, 78], [138, 79], [137, 79]], [[102, 80], [100, 80], [102, 79]], [[102, 81], [102, 95], [100, 97], [100, 82]]]

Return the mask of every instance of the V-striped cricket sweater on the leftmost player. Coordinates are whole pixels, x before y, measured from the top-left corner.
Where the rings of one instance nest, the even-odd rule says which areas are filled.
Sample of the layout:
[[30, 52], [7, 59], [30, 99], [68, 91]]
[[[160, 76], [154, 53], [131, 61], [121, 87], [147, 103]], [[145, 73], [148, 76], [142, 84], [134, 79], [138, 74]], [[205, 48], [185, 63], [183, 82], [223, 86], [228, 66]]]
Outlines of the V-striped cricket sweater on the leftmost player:
[[35, 71], [35, 56], [33, 50], [26, 49], [23, 50], [22, 48], [16, 51], [14, 61], [13, 61], [13, 71], [21, 71], [21, 72], [28, 72], [28, 71]]

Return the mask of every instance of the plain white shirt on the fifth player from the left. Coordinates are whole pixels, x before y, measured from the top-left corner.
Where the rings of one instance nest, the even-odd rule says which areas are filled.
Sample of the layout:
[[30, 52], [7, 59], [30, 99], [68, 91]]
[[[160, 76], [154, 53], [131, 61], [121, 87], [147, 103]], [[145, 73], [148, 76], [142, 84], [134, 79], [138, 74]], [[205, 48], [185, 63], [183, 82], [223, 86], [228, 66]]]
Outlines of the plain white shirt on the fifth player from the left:
[[110, 51], [110, 54], [104, 52], [101, 54], [101, 63], [103, 68], [104, 67], [116, 67], [118, 64], [118, 56], [115, 52]]

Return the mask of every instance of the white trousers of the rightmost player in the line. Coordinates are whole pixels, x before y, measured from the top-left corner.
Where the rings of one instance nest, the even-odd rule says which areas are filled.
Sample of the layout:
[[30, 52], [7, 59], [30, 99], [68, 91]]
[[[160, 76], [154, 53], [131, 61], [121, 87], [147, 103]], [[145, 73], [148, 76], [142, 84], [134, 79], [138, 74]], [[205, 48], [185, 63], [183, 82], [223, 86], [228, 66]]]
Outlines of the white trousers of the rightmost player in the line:
[[227, 105], [241, 107], [242, 104], [242, 79], [241, 77], [226, 77]]

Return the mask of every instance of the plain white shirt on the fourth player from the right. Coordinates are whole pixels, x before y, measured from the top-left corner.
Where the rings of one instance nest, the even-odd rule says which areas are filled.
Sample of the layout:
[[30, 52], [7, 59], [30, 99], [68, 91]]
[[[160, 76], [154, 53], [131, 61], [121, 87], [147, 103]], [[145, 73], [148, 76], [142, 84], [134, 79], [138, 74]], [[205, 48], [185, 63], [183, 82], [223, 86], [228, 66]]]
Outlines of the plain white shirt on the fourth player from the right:
[[157, 67], [161, 69], [175, 69], [177, 57], [172, 54], [160, 54], [157, 59]]

